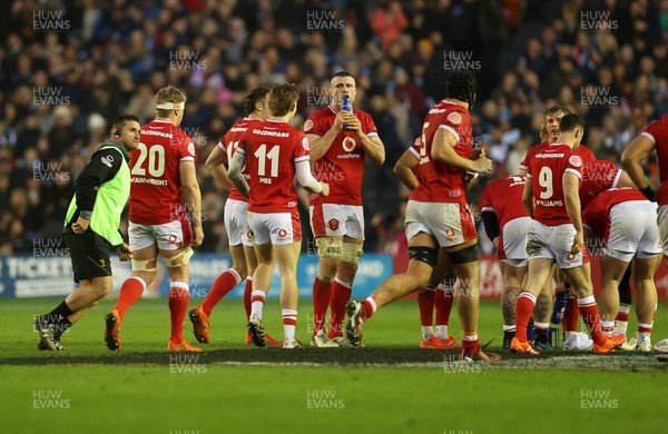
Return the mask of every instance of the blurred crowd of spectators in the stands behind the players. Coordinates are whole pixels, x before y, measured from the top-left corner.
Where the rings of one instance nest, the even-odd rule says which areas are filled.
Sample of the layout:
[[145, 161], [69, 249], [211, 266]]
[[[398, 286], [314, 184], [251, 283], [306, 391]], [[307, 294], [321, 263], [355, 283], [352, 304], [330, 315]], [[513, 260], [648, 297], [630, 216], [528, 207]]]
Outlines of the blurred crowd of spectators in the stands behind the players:
[[540, 141], [546, 108], [583, 116], [583, 142], [617, 164], [668, 111], [668, 0], [12, 0], [0, 6], [0, 254], [59, 236], [110, 120], [151, 120], [167, 83], [188, 96], [181, 128], [197, 145], [205, 251], [225, 250], [227, 237], [225, 194], [204, 161], [257, 85], [297, 83], [301, 128], [327, 103], [331, 76], [354, 75], [355, 106], [386, 147], [385, 164], [366, 169], [365, 250], [390, 254], [405, 244], [409, 196], [392, 168], [449, 70], [477, 73], [473, 136], [494, 160], [469, 193], [474, 211], [484, 184], [515, 172]]

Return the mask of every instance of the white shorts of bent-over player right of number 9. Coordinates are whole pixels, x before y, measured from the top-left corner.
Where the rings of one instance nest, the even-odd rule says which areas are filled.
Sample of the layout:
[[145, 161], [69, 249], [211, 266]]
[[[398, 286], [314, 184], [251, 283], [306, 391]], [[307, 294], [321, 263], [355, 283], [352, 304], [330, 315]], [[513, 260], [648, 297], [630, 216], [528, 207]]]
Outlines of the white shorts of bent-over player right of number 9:
[[625, 263], [633, 257], [646, 259], [660, 254], [657, 204], [632, 200], [615, 205], [606, 228], [603, 253]]

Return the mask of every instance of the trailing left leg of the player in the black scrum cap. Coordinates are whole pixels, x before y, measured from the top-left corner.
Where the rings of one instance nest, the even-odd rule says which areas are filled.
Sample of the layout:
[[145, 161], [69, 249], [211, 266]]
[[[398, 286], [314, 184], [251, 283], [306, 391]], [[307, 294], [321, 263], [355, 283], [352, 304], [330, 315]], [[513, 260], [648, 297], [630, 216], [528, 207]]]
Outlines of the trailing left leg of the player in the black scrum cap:
[[410, 235], [409, 269], [385, 279], [363, 302], [351, 300], [347, 304], [346, 336], [354, 346], [360, 345], [362, 341], [364, 322], [371, 318], [377, 308], [421, 289], [429, 283], [433, 267], [436, 265], [436, 239], [425, 231], [412, 234], [411, 228], [406, 228], [406, 235]]

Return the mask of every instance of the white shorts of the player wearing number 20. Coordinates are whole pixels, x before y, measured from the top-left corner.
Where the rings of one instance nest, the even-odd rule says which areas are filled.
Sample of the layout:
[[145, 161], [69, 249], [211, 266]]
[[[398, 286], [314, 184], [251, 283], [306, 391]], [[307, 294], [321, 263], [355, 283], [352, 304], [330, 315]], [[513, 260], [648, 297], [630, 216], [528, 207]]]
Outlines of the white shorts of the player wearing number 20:
[[174, 220], [163, 225], [140, 225], [130, 221], [128, 225], [130, 250], [141, 250], [157, 243], [160, 250], [176, 250], [193, 243], [190, 221]]

